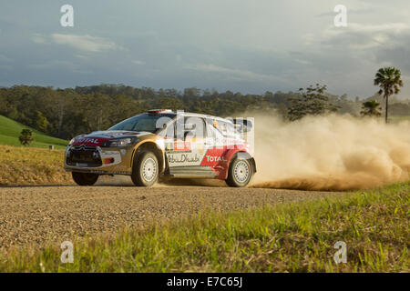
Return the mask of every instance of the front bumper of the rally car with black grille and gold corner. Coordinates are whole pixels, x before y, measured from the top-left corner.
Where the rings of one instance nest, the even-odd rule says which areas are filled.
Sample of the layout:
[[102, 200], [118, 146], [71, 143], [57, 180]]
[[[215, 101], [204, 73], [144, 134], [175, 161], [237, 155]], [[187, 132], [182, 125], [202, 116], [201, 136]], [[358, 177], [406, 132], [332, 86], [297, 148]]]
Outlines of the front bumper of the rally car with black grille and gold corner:
[[133, 146], [67, 146], [64, 168], [69, 172], [131, 175]]

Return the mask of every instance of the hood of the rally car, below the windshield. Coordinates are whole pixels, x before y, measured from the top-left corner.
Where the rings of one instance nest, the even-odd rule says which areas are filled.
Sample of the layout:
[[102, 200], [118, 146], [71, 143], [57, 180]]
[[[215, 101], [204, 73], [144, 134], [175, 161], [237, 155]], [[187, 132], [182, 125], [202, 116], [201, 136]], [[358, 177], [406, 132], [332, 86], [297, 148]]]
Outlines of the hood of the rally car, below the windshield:
[[110, 139], [118, 137], [135, 137], [141, 135], [149, 135], [149, 132], [137, 132], [126, 130], [105, 130], [95, 131], [88, 135], [78, 135], [75, 137], [75, 141], [71, 146], [100, 146]]

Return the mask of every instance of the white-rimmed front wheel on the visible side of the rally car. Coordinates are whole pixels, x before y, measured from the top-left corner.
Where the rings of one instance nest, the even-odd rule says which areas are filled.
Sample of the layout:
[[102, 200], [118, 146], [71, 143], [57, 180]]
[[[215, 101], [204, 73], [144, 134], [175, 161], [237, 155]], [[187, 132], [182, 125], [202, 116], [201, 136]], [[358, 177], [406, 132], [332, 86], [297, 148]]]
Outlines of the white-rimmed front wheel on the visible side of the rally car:
[[135, 186], [153, 186], [158, 181], [159, 165], [157, 156], [143, 151], [134, 158], [131, 179]]

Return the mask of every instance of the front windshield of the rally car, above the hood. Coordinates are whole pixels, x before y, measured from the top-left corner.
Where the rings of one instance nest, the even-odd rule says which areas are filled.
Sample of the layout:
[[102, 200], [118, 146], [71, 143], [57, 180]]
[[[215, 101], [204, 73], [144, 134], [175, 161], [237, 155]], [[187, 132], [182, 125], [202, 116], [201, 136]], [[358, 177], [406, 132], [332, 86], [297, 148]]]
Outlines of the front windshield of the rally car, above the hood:
[[173, 115], [136, 115], [128, 118], [108, 130], [145, 131], [156, 133], [163, 125], [167, 124]]

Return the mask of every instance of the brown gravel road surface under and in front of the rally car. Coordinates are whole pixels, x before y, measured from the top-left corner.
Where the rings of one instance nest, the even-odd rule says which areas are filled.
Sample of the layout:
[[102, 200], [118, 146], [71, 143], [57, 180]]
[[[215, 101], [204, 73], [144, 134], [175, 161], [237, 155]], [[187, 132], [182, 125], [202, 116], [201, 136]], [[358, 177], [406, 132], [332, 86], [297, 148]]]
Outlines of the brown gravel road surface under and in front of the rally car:
[[238, 209], [337, 193], [221, 186], [0, 187], [0, 248], [60, 244], [198, 212]]

